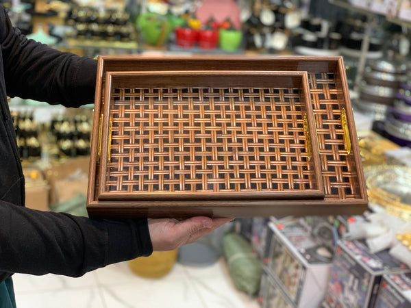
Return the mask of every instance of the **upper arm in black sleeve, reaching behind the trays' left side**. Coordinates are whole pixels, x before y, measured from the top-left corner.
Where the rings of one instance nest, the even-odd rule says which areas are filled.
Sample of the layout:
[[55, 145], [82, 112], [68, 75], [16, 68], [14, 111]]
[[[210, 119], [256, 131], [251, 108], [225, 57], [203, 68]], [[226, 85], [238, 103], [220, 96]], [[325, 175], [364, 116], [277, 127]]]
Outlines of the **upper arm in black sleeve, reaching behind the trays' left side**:
[[0, 42], [9, 97], [78, 107], [93, 103], [97, 61], [28, 40], [0, 6]]

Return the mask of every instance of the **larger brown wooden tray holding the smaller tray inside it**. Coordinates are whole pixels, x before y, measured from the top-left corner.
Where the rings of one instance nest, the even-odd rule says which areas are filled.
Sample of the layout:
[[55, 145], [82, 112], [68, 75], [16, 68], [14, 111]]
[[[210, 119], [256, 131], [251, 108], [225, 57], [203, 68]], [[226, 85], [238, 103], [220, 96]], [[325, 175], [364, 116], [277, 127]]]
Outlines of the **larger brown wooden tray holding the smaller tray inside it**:
[[[221, 201], [99, 200], [99, 125], [105, 73], [164, 70], [282, 70], [308, 73], [319, 143], [323, 199]], [[340, 57], [100, 57], [96, 89], [88, 212], [101, 217], [270, 216], [360, 214], [367, 207], [364, 176], [343, 61]], [[93, 161], [94, 159], [94, 161]]]

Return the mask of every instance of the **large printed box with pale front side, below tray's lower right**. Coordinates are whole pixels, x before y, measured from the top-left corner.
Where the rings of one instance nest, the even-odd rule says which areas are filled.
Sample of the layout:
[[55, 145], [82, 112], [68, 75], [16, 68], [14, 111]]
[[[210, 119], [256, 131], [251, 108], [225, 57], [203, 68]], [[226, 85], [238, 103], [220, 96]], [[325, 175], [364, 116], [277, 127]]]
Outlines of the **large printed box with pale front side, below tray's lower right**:
[[267, 271], [295, 307], [318, 307], [329, 280], [332, 248], [314, 238], [299, 219], [269, 222]]

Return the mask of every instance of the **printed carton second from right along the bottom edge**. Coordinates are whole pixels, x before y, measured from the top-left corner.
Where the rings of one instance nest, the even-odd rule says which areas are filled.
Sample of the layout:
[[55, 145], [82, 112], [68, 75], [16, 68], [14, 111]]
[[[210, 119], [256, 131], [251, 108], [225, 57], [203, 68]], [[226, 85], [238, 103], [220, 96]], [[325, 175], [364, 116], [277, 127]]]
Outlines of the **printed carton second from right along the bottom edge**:
[[339, 240], [323, 307], [374, 307], [382, 275], [407, 271], [388, 250], [373, 254], [363, 241]]

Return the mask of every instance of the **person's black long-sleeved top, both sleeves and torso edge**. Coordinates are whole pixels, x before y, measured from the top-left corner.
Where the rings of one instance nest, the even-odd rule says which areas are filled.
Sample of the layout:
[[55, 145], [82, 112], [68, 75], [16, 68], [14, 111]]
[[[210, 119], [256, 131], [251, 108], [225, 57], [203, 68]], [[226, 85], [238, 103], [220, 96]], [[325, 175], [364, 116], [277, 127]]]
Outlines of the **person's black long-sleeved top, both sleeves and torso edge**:
[[97, 62], [27, 40], [0, 6], [0, 282], [14, 272], [78, 277], [150, 255], [147, 219], [92, 220], [27, 209], [6, 95], [78, 107], [92, 103]]

